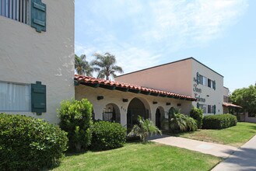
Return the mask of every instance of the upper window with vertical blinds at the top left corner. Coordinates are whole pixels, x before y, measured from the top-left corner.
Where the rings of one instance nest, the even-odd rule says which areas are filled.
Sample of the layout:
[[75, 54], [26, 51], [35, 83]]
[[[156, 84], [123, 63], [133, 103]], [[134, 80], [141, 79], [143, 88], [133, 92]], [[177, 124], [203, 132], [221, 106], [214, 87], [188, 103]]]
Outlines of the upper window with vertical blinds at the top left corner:
[[0, 0], [0, 16], [30, 24], [30, 0]]

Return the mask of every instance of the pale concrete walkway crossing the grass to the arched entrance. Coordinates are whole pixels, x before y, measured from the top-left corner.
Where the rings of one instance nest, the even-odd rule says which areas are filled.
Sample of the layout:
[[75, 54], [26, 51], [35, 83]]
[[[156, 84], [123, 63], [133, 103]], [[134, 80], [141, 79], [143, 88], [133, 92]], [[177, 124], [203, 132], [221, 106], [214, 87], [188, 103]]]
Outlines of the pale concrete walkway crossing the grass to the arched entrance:
[[211, 142], [196, 141], [188, 138], [179, 138], [167, 135], [155, 136], [150, 138], [150, 141], [158, 142], [164, 145], [187, 148], [193, 151], [222, 157], [224, 159], [229, 157], [233, 152], [237, 150], [237, 148], [228, 145], [219, 145]]

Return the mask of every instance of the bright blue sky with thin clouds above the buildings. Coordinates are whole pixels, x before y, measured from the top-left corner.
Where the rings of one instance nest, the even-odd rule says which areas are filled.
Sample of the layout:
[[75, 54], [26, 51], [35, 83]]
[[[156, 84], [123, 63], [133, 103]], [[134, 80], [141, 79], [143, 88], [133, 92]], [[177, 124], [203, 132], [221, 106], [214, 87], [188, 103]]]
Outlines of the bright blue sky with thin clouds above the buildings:
[[75, 0], [75, 53], [124, 73], [194, 57], [234, 89], [256, 82], [254, 0]]

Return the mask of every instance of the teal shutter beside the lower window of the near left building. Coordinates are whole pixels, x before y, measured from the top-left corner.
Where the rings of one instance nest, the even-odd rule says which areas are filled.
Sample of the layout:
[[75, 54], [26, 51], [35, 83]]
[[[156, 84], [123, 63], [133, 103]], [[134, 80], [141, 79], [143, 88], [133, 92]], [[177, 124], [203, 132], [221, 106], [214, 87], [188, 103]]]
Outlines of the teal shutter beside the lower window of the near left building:
[[46, 112], [46, 86], [41, 82], [31, 84], [31, 112], [38, 115]]

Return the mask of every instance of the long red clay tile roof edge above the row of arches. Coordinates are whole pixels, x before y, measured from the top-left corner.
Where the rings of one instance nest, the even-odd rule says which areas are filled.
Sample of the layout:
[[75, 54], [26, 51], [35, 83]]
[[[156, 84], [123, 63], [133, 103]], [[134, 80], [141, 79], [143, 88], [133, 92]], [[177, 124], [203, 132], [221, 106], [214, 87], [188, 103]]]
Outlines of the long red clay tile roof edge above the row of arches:
[[[75, 82], [81, 83], [83, 85], [99, 85], [102, 88], [106, 88], [104, 86], [112, 87], [114, 89], [128, 89], [129, 92], [133, 92], [134, 90], [137, 91], [137, 93], [143, 93], [146, 92], [147, 94], [151, 95], [160, 95], [164, 97], [170, 97], [174, 99], [184, 99], [184, 100], [189, 100], [189, 101], [196, 101], [194, 97], [191, 96], [184, 96], [181, 94], [177, 94], [174, 92], [166, 92], [162, 90], [157, 90], [157, 89], [150, 89], [142, 86], [136, 86], [128, 83], [123, 83], [123, 82], [114, 82], [114, 81], [109, 81], [106, 79], [96, 79], [93, 77], [89, 76], [83, 76], [83, 75], [75, 75]], [[120, 89], [118, 89], [120, 90]]]

